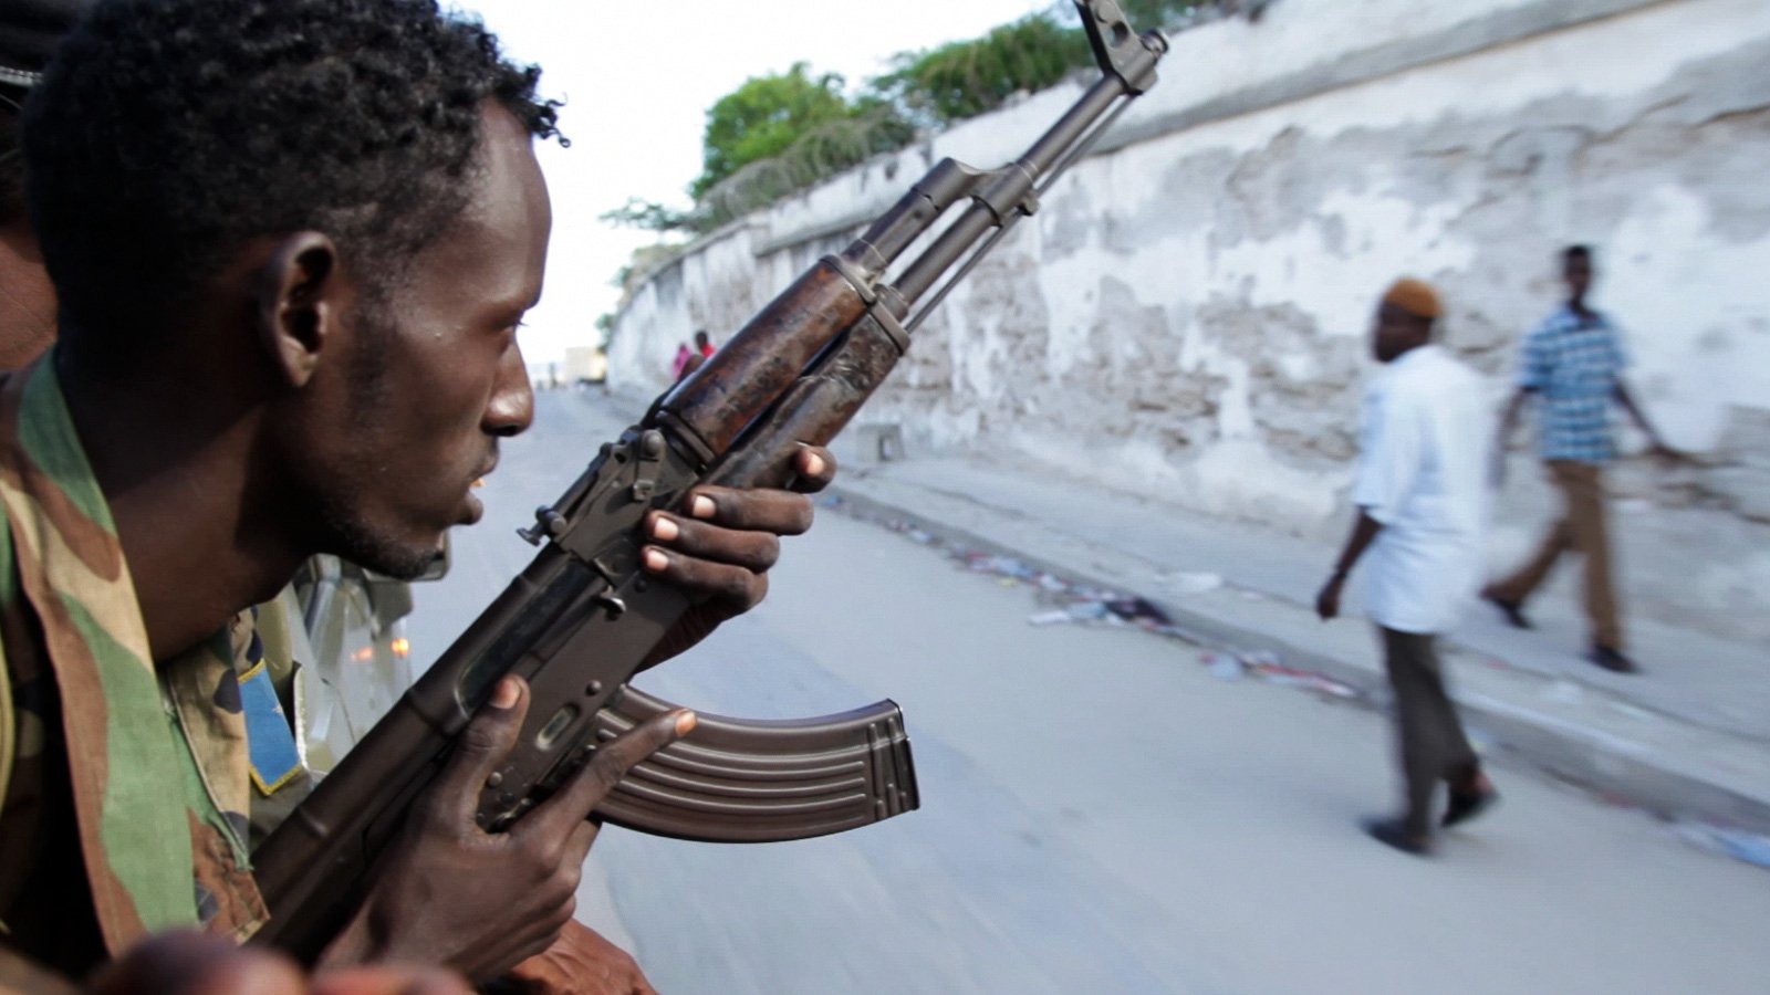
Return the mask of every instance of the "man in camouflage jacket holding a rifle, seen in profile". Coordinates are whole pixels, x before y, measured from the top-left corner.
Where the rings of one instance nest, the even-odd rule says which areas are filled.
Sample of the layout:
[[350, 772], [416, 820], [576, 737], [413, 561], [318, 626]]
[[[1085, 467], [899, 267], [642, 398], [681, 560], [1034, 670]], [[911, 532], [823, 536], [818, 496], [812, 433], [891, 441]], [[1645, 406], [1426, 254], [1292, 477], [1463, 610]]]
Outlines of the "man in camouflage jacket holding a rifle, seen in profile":
[[[25, 154], [60, 343], [0, 381], [5, 947], [80, 976], [150, 931], [262, 926], [230, 620], [315, 552], [409, 577], [478, 519], [471, 483], [533, 416], [536, 78], [432, 0], [103, 2], [50, 67]], [[814, 490], [834, 464], [798, 471]], [[646, 568], [699, 595], [667, 652], [754, 605], [811, 521], [781, 490], [687, 508], [646, 521]], [[526, 708], [520, 680], [494, 690], [322, 967], [489, 979], [547, 951], [584, 814], [694, 722], [483, 834]], [[570, 937], [552, 965], [612, 951]]]

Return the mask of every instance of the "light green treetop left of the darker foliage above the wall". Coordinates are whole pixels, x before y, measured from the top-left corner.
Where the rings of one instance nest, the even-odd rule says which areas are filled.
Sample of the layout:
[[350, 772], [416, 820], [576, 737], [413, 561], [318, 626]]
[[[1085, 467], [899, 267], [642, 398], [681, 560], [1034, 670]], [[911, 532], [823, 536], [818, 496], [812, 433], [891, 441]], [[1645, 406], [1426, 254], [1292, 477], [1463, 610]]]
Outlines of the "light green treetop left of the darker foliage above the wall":
[[786, 152], [802, 135], [851, 112], [835, 73], [812, 76], [805, 62], [775, 76], [756, 76], [706, 112], [701, 175], [689, 193], [699, 200], [719, 181], [758, 159]]

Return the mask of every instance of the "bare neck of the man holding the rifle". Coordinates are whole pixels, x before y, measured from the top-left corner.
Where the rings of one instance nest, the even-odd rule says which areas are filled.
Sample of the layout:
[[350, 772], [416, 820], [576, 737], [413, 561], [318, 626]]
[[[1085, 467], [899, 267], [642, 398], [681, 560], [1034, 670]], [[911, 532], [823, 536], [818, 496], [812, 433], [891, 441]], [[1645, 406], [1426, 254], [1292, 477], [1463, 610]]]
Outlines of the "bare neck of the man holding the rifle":
[[[67, 363], [60, 363], [67, 366]], [[207, 639], [274, 595], [303, 552], [255, 501], [262, 407], [207, 390], [200, 368], [150, 363], [133, 375], [64, 368], [62, 391], [110, 505], [154, 660]]]

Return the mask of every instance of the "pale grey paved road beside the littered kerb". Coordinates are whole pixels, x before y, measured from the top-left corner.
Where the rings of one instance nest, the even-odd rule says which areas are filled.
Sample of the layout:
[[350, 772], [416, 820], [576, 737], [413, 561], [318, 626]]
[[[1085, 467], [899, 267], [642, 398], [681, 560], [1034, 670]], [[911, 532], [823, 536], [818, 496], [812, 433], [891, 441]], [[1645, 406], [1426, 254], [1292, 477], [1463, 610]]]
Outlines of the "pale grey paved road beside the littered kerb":
[[[419, 590], [421, 659], [520, 568], [510, 529], [628, 414], [540, 397], [487, 522]], [[1765, 871], [1519, 772], [1437, 859], [1391, 853], [1354, 829], [1393, 798], [1379, 715], [1035, 611], [1027, 588], [825, 513], [765, 605], [641, 683], [752, 717], [896, 698], [924, 807], [772, 846], [611, 829], [584, 917], [671, 995], [1763, 991]]]

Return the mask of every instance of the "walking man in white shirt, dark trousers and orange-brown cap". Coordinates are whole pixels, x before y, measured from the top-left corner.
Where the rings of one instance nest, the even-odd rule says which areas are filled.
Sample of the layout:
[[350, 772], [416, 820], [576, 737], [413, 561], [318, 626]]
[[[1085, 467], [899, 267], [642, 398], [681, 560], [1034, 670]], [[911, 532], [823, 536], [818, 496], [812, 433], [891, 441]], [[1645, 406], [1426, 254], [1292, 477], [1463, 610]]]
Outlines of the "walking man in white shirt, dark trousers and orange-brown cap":
[[1432, 342], [1443, 313], [1437, 292], [1420, 280], [1397, 280], [1377, 306], [1372, 351], [1384, 368], [1365, 395], [1352, 487], [1358, 522], [1315, 598], [1324, 621], [1340, 614], [1345, 579], [1370, 549], [1365, 600], [1395, 689], [1407, 790], [1400, 816], [1366, 821], [1365, 830], [1418, 855], [1432, 850], [1439, 781], [1450, 786], [1437, 820], [1444, 827], [1499, 797], [1444, 690], [1435, 648], [1481, 584], [1492, 437], [1480, 379]]

